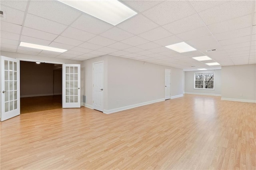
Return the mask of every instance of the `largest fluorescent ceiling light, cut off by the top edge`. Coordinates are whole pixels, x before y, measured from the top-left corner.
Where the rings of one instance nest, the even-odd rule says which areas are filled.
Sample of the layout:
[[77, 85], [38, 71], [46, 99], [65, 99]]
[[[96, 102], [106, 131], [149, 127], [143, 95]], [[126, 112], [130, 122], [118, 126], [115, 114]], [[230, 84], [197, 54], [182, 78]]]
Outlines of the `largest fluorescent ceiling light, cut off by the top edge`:
[[58, 0], [86, 14], [116, 26], [136, 15], [137, 12], [128, 8], [118, 0]]

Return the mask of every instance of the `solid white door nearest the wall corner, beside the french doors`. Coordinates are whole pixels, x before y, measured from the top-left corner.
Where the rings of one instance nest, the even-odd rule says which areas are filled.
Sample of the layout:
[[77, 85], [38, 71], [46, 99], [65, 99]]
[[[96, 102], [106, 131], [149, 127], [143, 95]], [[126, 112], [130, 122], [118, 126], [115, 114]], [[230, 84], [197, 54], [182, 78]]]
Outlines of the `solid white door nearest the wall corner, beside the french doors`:
[[104, 110], [104, 63], [93, 63], [93, 109]]

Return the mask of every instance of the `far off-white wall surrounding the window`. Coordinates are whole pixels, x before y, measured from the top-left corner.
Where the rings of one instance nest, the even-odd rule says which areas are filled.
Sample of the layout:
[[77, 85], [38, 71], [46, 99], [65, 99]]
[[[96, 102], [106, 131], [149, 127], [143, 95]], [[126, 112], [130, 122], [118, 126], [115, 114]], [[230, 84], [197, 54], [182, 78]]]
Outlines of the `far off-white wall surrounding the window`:
[[[214, 72], [214, 90], [212, 89], [194, 89], [194, 73], [210, 73]], [[222, 71], [203, 70], [203, 71], [185, 71], [185, 93], [199, 95], [221, 95], [221, 75]]]

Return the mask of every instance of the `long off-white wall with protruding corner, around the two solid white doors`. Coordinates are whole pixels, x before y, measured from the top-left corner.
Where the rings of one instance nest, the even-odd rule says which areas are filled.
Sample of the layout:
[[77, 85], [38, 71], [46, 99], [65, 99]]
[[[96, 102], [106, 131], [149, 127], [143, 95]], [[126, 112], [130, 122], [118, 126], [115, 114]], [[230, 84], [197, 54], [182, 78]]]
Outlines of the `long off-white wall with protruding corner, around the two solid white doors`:
[[183, 95], [183, 71], [122, 57], [84, 61], [86, 105], [92, 107], [92, 63], [104, 61], [104, 113], [164, 100], [165, 69], [171, 69], [171, 96]]

